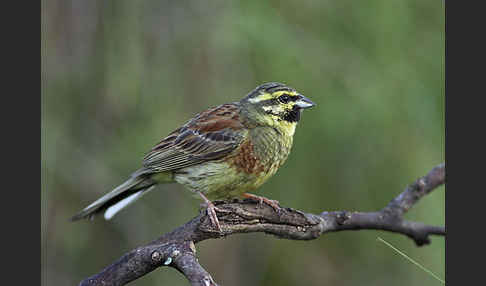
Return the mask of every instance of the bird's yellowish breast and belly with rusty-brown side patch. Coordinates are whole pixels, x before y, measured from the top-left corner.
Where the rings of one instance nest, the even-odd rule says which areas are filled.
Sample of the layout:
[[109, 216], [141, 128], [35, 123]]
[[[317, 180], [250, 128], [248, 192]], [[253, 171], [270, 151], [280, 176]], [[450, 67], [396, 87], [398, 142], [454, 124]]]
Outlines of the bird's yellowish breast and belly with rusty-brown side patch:
[[285, 162], [292, 136], [273, 127], [250, 129], [229, 158], [178, 171], [175, 180], [210, 200], [238, 197], [260, 187]]

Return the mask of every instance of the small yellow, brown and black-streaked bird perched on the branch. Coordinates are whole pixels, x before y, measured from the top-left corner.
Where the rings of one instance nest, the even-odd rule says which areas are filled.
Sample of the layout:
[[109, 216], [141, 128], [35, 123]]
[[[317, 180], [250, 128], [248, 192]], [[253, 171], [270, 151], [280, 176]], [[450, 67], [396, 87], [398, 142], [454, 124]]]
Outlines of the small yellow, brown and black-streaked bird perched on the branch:
[[267, 82], [240, 101], [200, 112], [147, 152], [128, 180], [71, 220], [101, 213], [110, 220], [156, 185], [168, 183], [179, 183], [200, 197], [218, 230], [215, 200], [248, 198], [279, 210], [278, 201], [251, 192], [286, 161], [302, 110], [313, 106], [294, 88]]

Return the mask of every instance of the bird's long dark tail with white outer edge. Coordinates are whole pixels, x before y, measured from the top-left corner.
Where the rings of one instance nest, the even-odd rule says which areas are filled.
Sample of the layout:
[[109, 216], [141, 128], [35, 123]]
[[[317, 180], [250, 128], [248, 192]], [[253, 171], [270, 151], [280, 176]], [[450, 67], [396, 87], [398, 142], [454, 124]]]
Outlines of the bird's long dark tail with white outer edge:
[[92, 219], [104, 212], [106, 220], [111, 219], [119, 211], [135, 202], [155, 188], [155, 181], [150, 176], [133, 176], [111, 192], [102, 196], [71, 218], [71, 221]]

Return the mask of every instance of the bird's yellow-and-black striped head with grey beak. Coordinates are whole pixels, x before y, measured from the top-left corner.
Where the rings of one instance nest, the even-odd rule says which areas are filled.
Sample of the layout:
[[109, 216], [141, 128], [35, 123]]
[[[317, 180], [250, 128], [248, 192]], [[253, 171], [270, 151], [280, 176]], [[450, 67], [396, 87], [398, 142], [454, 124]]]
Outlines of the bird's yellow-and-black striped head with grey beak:
[[249, 111], [251, 120], [276, 127], [295, 127], [302, 110], [315, 106], [295, 89], [278, 82], [256, 87], [240, 103]]

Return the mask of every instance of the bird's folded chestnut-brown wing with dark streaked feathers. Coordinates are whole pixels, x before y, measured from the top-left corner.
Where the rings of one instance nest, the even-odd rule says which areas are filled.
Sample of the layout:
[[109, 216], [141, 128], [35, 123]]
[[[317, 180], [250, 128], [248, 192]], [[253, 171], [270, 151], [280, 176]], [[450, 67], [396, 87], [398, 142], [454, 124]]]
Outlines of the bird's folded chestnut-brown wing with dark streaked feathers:
[[220, 159], [247, 134], [239, 104], [223, 104], [197, 114], [160, 141], [145, 156], [144, 173], [164, 172]]

